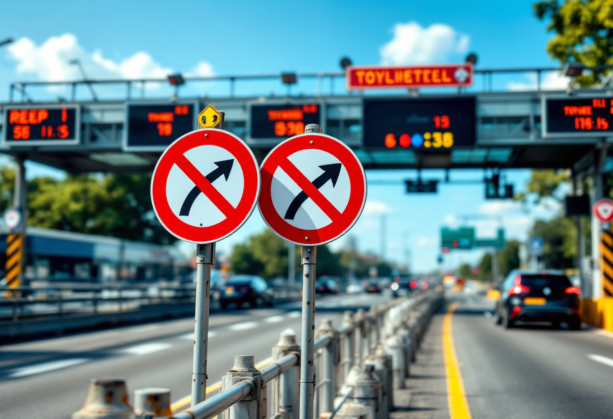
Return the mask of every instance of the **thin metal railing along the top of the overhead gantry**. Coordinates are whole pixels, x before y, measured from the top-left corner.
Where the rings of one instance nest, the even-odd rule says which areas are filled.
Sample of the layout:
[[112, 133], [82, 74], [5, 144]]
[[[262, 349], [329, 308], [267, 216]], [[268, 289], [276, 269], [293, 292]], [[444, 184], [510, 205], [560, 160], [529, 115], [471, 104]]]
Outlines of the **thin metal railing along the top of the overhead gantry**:
[[[612, 69], [613, 66], [593, 66], [584, 67], [584, 70], [606, 70]], [[525, 74], [527, 77], [532, 76], [535, 82], [536, 91], [541, 91], [543, 74], [551, 72], [562, 72], [563, 67], [533, 67], [533, 68], [515, 68], [515, 69], [475, 69], [474, 73], [480, 75], [481, 83], [475, 80], [474, 87], [470, 91], [479, 92], [478, 85], [481, 85], [481, 92], [493, 92], [494, 83], [493, 77], [495, 75], [503, 74]], [[335, 96], [335, 86], [338, 78], [344, 79], [345, 73], [343, 72], [320, 72], [320, 73], [304, 73], [296, 74], [296, 79], [301, 80], [314, 80], [316, 81], [315, 96], [321, 96], [327, 94], [329, 96]], [[227, 75], [227, 76], [211, 76], [211, 77], [194, 77], [183, 76], [186, 83], [193, 82], [224, 82], [229, 86], [229, 97], [236, 97], [236, 83], [237, 81], [280, 81], [283, 83], [282, 74], [261, 74], [261, 75]], [[328, 89], [324, 93], [324, 81], [328, 82]], [[608, 82], [609, 80], [607, 80]], [[147, 91], [147, 85], [159, 85], [159, 83], [169, 83], [167, 78], [138, 78], [132, 80], [126, 79], [106, 79], [106, 80], [67, 80], [67, 81], [18, 81], [10, 84], [9, 89], [9, 102], [13, 102], [15, 99], [15, 92], [19, 92], [21, 102], [34, 102], [30, 94], [28, 93], [28, 86], [69, 86], [70, 87], [70, 101], [74, 102], [77, 99], [78, 86], [87, 86], [91, 88], [94, 85], [120, 85], [125, 86], [126, 94], [119, 100], [131, 100], [131, 99], [145, 99], [145, 92]], [[604, 86], [602, 86], [604, 87]], [[602, 88], [600, 87], [600, 88]], [[140, 89], [140, 95], [134, 95], [132, 92], [135, 89]], [[344, 91], [344, 89], [343, 89]], [[175, 90], [175, 94], [178, 95], [178, 89]], [[343, 92], [344, 94], [344, 92]], [[253, 93], [249, 96], [259, 96]], [[291, 96], [289, 87], [287, 88], [287, 96]], [[96, 101], [97, 97], [93, 97], [93, 101]]]

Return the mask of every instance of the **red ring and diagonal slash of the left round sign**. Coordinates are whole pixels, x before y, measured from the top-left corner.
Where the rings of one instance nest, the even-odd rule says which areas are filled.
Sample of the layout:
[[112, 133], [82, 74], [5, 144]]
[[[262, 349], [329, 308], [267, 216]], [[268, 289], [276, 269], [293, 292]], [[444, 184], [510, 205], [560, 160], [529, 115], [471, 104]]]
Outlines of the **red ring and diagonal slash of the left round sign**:
[[[205, 137], [205, 134], [208, 134]], [[237, 160], [243, 171], [243, 195], [236, 208], [232, 207], [215, 187], [211, 185], [204, 175], [200, 173], [189, 160], [183, 156], [188, 150], [203, 145], [213, 145], [226, 149]], [[205, 195], [218, 206], [226, 218], [217, 224], [208, 227], [196, 227], [181, 221], [170, 209], [166, 196], [166, 183], [170, 169], [173, 165], [178, 167], [197, 184]], [[195, 172], [194, 172], [195, 171]], [[183, 137], [177, 138], [168, 146], [158, 160], [151, 179], [151, 202], [153, 210], [158, 216], [164, 228], [173, 236], [191, 243], [212, 243], [234, 233], [243, 225], [251, 212], [254, 210], [260, 189], [260, 175], [257, 169], [256, 158], [248, 146], [230, 132], [205, 128], [188, 132]], [[221, 199], [219, 199], [221, 197]], [[224, 202], [225, 206], [218, 205], [217, 200]], [[219, 202], [221, 204], [221, 202]]]

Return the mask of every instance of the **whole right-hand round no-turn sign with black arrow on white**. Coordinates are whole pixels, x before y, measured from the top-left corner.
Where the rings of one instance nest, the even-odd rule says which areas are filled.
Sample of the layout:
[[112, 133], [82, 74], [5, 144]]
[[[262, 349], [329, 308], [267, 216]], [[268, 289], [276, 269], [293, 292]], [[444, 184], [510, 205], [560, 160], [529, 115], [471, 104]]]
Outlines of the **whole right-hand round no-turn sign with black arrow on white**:
[[351, 149], [324, 134], [302, 134], [276, 146], [260, 168], [258, 208], [276, 235], [318, 246], [345, 234], [366, 202], [366, 175]]

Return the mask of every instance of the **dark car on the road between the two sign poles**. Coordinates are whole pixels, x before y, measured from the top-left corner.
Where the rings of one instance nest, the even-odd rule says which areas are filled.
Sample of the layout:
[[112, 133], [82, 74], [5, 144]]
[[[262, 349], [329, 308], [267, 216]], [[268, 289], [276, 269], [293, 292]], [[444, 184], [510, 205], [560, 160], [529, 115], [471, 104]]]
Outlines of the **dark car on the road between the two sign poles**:
[[267, 304], [273, 305], [273, 292], [268, 288], [266, 281], [255, 275], [235, 275], [221, 285], [219, 294], [219, 305], [225, 309], [228, 304], [236, 303], [237, 306], [249, 303], [251, 307]]

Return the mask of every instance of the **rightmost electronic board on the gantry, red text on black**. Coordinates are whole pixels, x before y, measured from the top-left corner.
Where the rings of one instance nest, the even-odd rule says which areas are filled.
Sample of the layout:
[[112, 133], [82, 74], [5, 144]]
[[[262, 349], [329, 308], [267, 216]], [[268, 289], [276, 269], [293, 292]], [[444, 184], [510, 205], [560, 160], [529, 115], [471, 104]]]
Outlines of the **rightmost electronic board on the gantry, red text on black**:
[[543, 138], [605, 137], [613, 132], [611, 97], [543, 97]]

